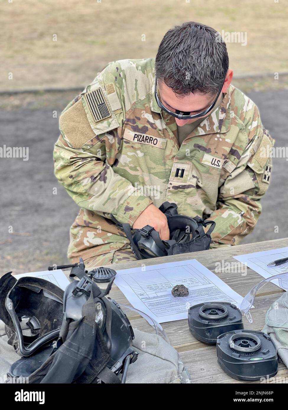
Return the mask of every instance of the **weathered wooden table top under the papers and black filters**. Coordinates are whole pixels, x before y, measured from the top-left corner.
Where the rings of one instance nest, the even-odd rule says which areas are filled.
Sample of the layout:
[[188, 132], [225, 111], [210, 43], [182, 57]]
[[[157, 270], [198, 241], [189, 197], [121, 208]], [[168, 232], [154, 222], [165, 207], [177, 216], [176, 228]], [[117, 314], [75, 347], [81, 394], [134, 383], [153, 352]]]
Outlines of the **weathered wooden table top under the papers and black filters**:
[[[255, 244], [231, 246], [227, 248], [210, 249], [209, 251], [186, 253], [184, 255], [166, 256], [113, 264], [109, 265], [109, 267], [117, 271], [120, 269], [143, 266], [143, 264], [148, 266], [164, 262], [177, 262], [195, 258], [206, 266], [206, 268], [210, 269], [210, 271], [219, 276], [219, 278], [226, 282], [227, 285], [235, 290], [235, 292], [241, 296], [245, 296], [254, 285], [260, 282], [260, 280], [263, 280], [263, 277], [249, 268], [247, 268], [246, 276], [243, 276], [241, 273], [233, 272], [216, 273], [215, 268], [217, 267], [217, 262], [221, 262], [222, 260], [225, 262], [236, 262], [233, 256], [283, 248], [285, 246], [288, 246], [288, 238], [257, 242]], [[219, 269], [217, 269], [217, 271], [219, 271]], [[65, 271], [65, 274], [68, 276], [69, 271]], [[143, 272], [143, 275], [145, 275], [145, 272]], [[101, 285], [101, 287], [104, 288], [106, 285]], [[268, 308], [276, 299], [280, 297], [282, 292], [282, 289], [272, 283], [268, 283], [265, 287], [260, 289], [260, 291], [256, 294], [256, 299], [254, 302], [255, 308], [252, 310], [253, 323], [249, 323], [246, 317], [244, 317], [244, 328], [262, 330], [265, 324], [265, 314]], [[109, 296], [115, 299], [118, 303], [130, 305], [116, 285], [112, 286]], [[151, 332], [151, 326], [142, 317], [138, 316], [138, 314], [133, 314], [133, 316], [129, 317], [129, 320], [134, 328]], [[214, 345], [208, 345], [196, 340], [189, 331], [187, 319], [161, 323], [161, 326], [164, 328], [170, 340], [170, 344], [179, 352], [184, 366], [187, 367], [191, 375], [191, 383], [260, 383], [260, 381], [238, 381], [224, 373], [217, 363], [216, 347]], [[288, 377], [288, 369], [281, 363], [279, 363], [279, 371], [277, 376], [281, 378]]]

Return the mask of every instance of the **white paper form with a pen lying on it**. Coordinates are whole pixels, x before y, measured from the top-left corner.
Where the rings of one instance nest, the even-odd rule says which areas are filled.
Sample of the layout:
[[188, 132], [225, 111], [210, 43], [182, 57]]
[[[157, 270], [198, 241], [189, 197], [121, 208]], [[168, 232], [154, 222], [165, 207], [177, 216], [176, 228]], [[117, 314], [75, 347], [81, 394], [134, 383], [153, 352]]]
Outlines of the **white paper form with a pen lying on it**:
[[[277, 259], [288, 257], [288, 246], [286, 248], [272, 249], [271, 251], [262, 251], [248, 253], [246, 255], [234, 256], [239, 262], [247, 264], [253, 271], [259, 273], [263, 278], [271, 278], [271, 276], [279, 273], [288, 272], [288, 263], [279, 266], [267, 266], [268, 263]], [[278, 280], [273, 280], [273, 283], [279, 286]]]

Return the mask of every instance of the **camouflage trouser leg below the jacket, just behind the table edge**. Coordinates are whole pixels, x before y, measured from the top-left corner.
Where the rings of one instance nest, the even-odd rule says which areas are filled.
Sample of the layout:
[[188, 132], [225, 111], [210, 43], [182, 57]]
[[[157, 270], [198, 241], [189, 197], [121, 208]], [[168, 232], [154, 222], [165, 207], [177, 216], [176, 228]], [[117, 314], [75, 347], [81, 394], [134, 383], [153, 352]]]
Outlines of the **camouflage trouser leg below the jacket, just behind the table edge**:
[[[82, 253], [81, 257], [84, 260], [86, 268], [95, 268], [97, 266], [106, 266], [113, 263], [124, 263], [130, 260], [137, 260], [131, 249], [123, 249], [120, 251], [111, 251], [104, 253], [103, 255], [95, 255], [87, 257], [85, 259], [85, 253]], [[71, 263], [79, 262], [79, 258], [70, 258]]]

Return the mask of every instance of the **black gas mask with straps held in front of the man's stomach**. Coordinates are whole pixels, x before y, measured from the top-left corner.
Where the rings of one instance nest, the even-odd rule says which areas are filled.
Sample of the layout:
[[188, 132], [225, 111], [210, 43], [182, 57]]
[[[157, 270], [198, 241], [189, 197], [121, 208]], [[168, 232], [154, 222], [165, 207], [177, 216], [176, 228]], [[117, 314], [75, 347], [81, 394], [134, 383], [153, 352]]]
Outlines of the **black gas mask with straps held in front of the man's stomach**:
[[[214, 221], [204, 221], [199, 216], [190, 218], [178, 215], [175, 203], [164, 202], [159, 210], [167, 217], [170, 231], [168, 241], [161, 240], [159, 232], [150, 225], [141, 229], [131, 229], [129, 223], [121, 224], [111, 215], [113, 221], [124, 230], [137, 259], [205, 251], [210, 248], [210, 234], [215, 227]], [[210, 228], [205, 233], [203, 227], [206, 228], [207, 225], [210, 225]]]

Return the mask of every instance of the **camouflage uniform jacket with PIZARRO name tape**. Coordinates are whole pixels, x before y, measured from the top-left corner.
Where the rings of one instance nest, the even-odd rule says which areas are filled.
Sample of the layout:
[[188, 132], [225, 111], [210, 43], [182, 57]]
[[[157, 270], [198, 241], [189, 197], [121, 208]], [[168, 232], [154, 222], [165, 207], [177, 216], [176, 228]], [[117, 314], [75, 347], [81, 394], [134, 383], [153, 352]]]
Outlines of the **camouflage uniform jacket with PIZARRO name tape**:
[[154, 59], [112, 62], [60, 116], [55, 175], [81, 207], [71, 260], [128, 249], [110, 214], [132, 226], [150, 203], [175, 202], [179, 214], [213, 219], [211, 248], [239, 244], [256, 224], [274, 143], [256, 105], [230, 85], [179, 146], [154, 83]]

